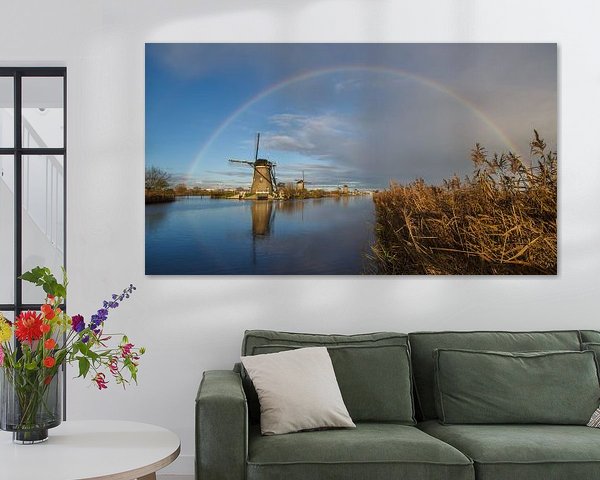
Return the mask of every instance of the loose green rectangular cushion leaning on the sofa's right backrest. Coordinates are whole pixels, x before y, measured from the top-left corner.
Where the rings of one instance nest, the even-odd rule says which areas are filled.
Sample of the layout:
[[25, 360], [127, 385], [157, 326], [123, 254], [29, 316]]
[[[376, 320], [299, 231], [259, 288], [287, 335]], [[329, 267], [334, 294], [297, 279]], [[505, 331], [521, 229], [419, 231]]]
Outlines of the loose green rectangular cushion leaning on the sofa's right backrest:
[[586, 425], [600, 402], [591, 351], [434, 352], [437, 413], [444, 424]]

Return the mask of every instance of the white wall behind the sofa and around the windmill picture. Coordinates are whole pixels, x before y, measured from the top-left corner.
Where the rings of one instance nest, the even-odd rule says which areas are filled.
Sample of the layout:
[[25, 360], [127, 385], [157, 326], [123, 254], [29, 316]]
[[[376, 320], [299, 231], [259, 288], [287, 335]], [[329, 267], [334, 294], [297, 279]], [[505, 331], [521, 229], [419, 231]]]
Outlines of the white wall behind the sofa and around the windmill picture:
[[[68, 67], [71, 313], [138, 291], [110, 319], [148, 348], [140, 386], [69, 383], [69, 418], [123, 418], [182, 438], [193, 468], [203, 370], [247, 328], [315, 332], [600, 327], [597, 0], [177, 2], [0, 0], [0, 61]], [[549, 278], [145, 277], [144, 42], [558, 42], [559, 275]]]

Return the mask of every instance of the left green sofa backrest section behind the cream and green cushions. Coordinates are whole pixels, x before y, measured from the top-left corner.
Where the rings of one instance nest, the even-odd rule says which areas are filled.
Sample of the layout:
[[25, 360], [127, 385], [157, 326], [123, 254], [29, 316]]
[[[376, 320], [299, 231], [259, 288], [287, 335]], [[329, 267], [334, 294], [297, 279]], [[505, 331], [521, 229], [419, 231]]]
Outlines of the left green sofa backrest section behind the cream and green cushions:
[[[265, 348], [269, 345], [281, 348], [288, 347], [335, 347], [335, 346], [386, 346], [386, 345], [408, 345], [408, 336], [403, 333], [377, 332], [358, 335], [323, 335], [311, 333], [277, 332], [273, 330], [247, 330], [242, 342], [242, 355], [257, 355], [268, 353]], [[258, 348], [260, 347], [260, 348]], [[262, 350], [261, 350], [262, 349]], [[274, 350], [271, 350], [271, 352]], [[257, 423], [260, 419], [260, 405], [258, 396], [252, 386], [252, 382], [242, 371], [242, 380], [250, 419]], [[342, 386], [340, 385], [340, 389]], [[342, 391], [343, 392], [343, 391]], [[350, 412], [352, 414], [352, 412]]]

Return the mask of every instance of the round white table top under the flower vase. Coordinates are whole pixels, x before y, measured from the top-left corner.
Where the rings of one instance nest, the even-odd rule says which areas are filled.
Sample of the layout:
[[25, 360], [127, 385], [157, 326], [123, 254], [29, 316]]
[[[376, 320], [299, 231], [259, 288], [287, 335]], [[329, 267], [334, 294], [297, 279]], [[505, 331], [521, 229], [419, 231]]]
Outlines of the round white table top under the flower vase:
[[132, 480], [167, 466], [179, 455], [179, 437], [146, 423], [67, 421], [48, 440], [17, 445], [0, 431], [0, 478], [10, 480]]

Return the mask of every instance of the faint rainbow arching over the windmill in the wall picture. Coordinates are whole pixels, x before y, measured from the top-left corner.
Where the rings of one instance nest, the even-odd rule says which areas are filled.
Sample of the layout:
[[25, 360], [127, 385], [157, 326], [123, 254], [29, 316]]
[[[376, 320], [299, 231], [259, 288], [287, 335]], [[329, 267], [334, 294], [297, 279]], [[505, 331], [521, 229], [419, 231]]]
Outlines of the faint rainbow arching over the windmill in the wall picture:
[[240, 107], [238, 107], [235, 111], [233, 111], [215, 129], [215, 131], [206, 140], [206, 142], [204, 143], [204, 145], [202, 146], [202, 148], [196, 155], [196, 158], [194, 159], [194, 162], [192, 163], [192, 166], [191, 166], [190, 170], [188, 171], [188, 174], [190, 176], [193, 175], [193, 172], [196, 170], [198, 164], [200, 163], [200, 161], [201, 161], [203, 155], [206, 153], [206, 151], [210, 148], [210, 146], [213, 144], [213, 142], [219, 137], [219, 135], [221, 135], [221, 133], [229, 125], [231, 125], [231, 123], [233, 121], [235, 121], [235, 119], [237, 117], [239, 117], [244, 111], [246, 111], [252, 105], [260, 102], [261, 100], [268, 97], [269, 95], [271, 95], [279, 90], [282, 90], [286, 87], [289, 87], [290, 85], [293, 85], [295, 83], [303, 82], [306, 80], [312, 80], [312, 79], [320, 77], [320, 76], [331, 75], [333, 73], [364, 72], [364, 71], [374, 72], [374, 73], [383, 73], [383, 74], [394, 75], [397, 77], [408, 78], [410, 80], [414, 80], [415, 82], [417, 82], [421, 85], [429, 87], [435, 91], [438, 91], [445, 95], [448, 95], [449, 97], [453, 98], [460, 104], [464, 105], [465, 108], [468, 108], [477, 118], [479, 118], [483, 123], [485, 123], [485, 125], [487, 125], [490, 128], [490, 130], [492, 130], [500, 139], [502, 139], [502, 141], [508, 146], [509, 150], [511, 150], [515, 154], [521, 156], [521, 153], [519, 152], [519, 148], [502, 131], [502, 129], [500, 129], [500, 127], [498, 127], [498, 125], [489, 117], [489, 115], [487, 115], [485, 112], [483, 112], [473, 102], [471, 102], [467, 98], [459, 95], [458, 93], [456, 93], [455, 91], [453, 91], [452, 89], [447, 87], [446, 85], [444, 85], [440, 82], [436, 82], [435, 80], [424, 77], [422, 75], [417, 75], [415, 73], [412, 73], [412, 72], [409, 72], [407, 70], [403, 70], [400, 68], [368, 66], [368, 65], [343, 65], [343, 66], [323, 68], [323, 69], [319, 69], [319, 70], [311, 70], [309, 72], [303, 72], [298, 75], [288, 77], [280, 82], [277, 82], [277, 83], [269, 86], [268, 88], [262, 90], [261, 92], [257, 93], [253, 97], [251, 97], [249, 100], [244, 102]]

